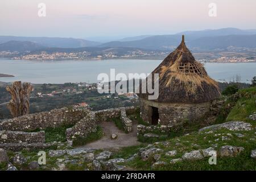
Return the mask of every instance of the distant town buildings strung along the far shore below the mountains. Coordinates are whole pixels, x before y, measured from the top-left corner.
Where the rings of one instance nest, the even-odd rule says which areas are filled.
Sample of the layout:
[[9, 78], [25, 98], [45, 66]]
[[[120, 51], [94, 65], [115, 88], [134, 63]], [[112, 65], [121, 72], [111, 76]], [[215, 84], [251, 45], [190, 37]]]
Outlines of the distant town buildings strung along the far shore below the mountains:
[[[125, 49], [125, 48], [123, 48]], [[104, 60], [104, 59], [164, 59], [170, 51], [105, 49], [90, 52], [27, 52], [0, 51], [0, 57], [14, 60]], [[202, 63], [253, 63], [256, 62], [256, 50], [248, 48], [229, 47], [221, 51], [193, 51], [196, 60]]]

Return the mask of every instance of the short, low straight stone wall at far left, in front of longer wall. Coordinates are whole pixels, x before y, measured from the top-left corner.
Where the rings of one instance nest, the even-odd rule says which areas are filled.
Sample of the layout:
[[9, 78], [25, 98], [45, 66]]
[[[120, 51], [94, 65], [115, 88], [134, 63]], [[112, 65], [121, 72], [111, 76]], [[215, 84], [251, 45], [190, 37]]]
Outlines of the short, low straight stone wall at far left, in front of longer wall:
[[24, 131], [0, 131], [0, 143], [43, 143], [44, 131], [26, 133]]

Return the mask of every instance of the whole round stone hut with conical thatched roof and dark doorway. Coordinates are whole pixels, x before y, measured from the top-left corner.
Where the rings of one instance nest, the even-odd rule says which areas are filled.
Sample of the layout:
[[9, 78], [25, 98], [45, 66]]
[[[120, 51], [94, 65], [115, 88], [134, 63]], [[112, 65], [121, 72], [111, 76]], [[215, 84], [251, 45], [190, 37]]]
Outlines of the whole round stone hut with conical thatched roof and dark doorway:
[[209, 112], [210, 102], [220, 96], [217, 82], [185, 46], [184, 35], [179, 47], [152, 73], [159, 73], [159, 97], [148, 100], [150, 94], [138, 94], [141, 117], [152, 125], [173, 127], [198, 120]]

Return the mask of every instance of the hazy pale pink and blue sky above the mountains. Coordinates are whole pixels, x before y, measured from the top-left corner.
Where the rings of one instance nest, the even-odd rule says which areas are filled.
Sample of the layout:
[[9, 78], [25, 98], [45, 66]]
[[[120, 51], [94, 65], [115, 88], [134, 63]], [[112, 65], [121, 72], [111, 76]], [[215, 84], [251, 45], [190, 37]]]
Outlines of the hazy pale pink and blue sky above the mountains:
[[[216, 3], [217, 16], [208, 5]], [[46, 17], [38, 4], [46, 4]], [[1, 0], [0, 35], [136, 36], [236, 27], [256, 29], [255, 0]]]

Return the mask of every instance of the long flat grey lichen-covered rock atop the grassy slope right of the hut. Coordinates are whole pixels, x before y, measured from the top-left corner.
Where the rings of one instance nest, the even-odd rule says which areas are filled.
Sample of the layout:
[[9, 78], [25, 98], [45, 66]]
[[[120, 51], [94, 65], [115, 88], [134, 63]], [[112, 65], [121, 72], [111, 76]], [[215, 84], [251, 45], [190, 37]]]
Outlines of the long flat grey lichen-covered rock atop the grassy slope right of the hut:
[[250, 123], [242, 122], [242, 121], [230, 121], [218, 125], [212, 125], [212, 126], [207, 126], [204, 127], [203, 129], [200, 129], [199, 131], [204, 131], [204, 130], [218, 130], [221, 128], [228, 129], [230, 131], [250, 131], [252, 130]]

